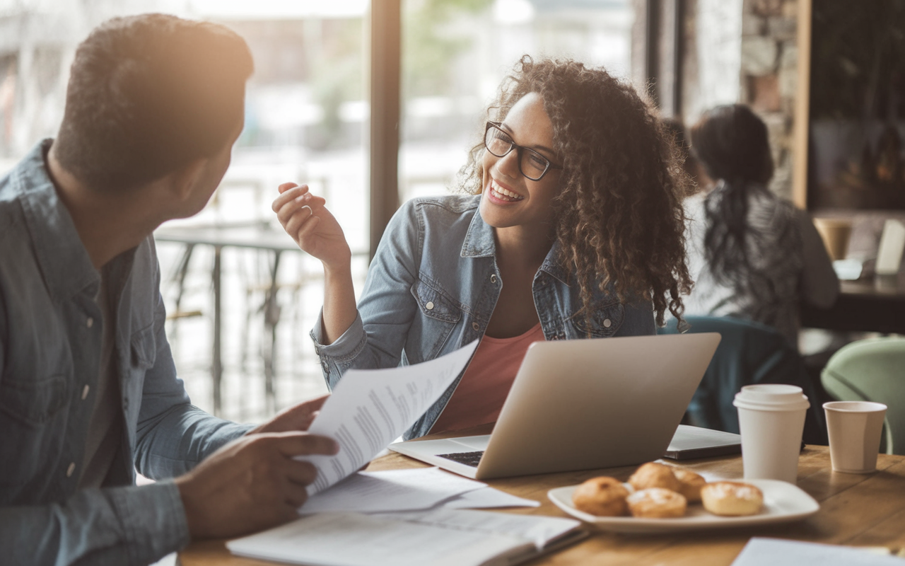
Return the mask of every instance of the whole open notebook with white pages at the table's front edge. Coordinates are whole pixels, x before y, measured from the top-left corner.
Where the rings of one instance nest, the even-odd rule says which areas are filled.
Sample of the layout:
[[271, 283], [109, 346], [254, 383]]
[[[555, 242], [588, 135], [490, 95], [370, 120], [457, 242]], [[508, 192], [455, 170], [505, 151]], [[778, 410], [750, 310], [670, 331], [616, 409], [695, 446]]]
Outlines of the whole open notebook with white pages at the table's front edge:
[[587, 536], [560, 517], [438, 509], [319, 513], [226, 542], [233, 554], [307, 566], [510, 566]]

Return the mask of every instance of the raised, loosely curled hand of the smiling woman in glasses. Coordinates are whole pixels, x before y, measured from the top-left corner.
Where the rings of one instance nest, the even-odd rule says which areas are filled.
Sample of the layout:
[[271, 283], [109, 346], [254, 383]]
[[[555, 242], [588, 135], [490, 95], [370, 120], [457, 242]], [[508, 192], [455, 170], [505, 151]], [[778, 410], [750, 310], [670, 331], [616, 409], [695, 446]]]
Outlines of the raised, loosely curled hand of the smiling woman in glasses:
[[283, 183], [273, 201], [273, 212], [302, 251], [324, 266], [348, 267], [352, 253], [337, 219], [324, 206], [323, 197], [312, 195], [307, 185]]

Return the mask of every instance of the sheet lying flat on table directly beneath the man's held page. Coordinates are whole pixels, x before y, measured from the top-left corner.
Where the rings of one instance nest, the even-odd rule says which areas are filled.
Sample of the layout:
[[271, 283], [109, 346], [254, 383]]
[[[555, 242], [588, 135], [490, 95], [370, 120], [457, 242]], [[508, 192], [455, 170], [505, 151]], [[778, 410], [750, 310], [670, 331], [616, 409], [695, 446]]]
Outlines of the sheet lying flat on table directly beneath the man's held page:
[[301, 506], [299, 513], [376, 513], [430, 509], [457, 495], [483, 491], [481, 488], [487, 488], [487, 484], [443, 472], [437, 467], [358, 472], [328, 490], [312, 495]]

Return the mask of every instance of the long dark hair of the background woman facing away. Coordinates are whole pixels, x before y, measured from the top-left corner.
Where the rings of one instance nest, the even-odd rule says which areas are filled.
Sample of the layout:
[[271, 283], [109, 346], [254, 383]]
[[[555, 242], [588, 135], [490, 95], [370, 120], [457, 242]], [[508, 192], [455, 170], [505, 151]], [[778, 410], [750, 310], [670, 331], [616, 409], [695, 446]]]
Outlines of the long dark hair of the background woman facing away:
[[748, 201], [757, 191], [767, 191], [773, 177], [767, 125], [747, 106], [718, 106], [691, 128], [691, 150], [717, 181], [704, 200], [704, 254], [714, 281], [757, 297], [758, 304], [772, 302], [774, 285], [748, 254], [749, 246], [760, 249], [764, 238], [748, 224]]

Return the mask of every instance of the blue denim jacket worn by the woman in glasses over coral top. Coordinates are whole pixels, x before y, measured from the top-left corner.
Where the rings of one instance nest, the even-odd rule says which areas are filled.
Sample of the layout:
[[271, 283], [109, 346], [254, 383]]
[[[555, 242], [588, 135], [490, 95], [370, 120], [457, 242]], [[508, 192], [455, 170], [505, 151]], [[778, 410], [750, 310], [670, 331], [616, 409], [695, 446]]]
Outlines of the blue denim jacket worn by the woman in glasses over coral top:
[[[480, 196], [416, 198], [396, 211], [368, 269], [356, 321], [329, 345], [323, 344], [322, 314], [311, 331], [329, 388], [350, 368], [415, 364], [481, 339], [503, 281], [480, 202]], [[548, 341], [655, 333], [650, 302], [623, 304], [598, 292], [590, 317], [578, 313], [578, 286], [556, 256], [554, 245], [531, 284]], [[427, 434], [461, 379], [406, 431], [406, 439]]]

